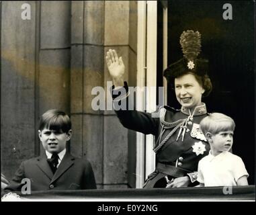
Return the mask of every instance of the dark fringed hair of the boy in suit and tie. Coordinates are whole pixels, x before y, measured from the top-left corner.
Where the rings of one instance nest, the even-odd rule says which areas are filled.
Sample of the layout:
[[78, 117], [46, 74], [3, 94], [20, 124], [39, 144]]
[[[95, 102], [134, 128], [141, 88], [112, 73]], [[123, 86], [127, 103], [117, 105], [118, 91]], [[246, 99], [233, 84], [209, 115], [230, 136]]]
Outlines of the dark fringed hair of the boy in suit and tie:
[[61, 110], [48, 110], [40, 118], [39, 130], [43, 130], [44, 128], [68, 133], [71, 130], [71, 120]]

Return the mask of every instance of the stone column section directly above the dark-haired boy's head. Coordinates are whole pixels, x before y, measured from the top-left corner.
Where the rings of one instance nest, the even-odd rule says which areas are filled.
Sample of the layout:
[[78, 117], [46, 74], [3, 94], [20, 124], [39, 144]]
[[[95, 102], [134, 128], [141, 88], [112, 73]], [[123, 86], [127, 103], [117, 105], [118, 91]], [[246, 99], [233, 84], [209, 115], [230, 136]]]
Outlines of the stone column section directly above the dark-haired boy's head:
[[39, 109], [70, 112], [69, 1], [41, 1]]

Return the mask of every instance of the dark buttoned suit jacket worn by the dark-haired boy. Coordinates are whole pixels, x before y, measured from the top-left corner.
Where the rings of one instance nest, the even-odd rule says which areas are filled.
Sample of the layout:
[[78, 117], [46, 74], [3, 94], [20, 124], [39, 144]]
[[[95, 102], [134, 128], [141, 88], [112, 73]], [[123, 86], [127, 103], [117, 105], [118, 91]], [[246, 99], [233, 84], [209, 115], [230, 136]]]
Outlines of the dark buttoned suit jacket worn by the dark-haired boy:
[[22, 179], [30, 179], [31, 191], [58, 189], [96, 189], [91, 163], [66, 153], [55, 174], [52, 173], [46, 155], [23, 161], [5, 191], [21, 191], [28, 185]]

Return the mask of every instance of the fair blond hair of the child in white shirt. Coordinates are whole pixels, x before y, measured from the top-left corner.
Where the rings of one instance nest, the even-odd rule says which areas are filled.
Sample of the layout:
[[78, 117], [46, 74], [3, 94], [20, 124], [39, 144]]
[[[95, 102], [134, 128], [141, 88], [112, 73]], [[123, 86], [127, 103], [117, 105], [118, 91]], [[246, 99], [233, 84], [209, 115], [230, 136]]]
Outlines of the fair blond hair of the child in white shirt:
[[207, 132], [212, 134], [218, 134], [218, 132], [222, 131], [234, 131], [234, 120], [225, 114], [213, 113], [210, 116], [206, 116], [200, 122], [200, 129], [206, 135]]

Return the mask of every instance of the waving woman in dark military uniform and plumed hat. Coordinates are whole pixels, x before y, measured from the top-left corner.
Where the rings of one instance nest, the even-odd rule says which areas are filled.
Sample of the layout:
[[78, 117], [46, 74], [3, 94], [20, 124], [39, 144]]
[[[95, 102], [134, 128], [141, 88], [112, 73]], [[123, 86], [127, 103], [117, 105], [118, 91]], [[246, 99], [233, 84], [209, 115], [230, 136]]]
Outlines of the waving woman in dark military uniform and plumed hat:
[[[163, 106], [158, 110], [160, 117], [152, 117], [146, 112], [136, 110], [116, 110], [116, 114], [125, 128], [153, 134], [155, 143], [156, 169], [148, 175], [144, 188], [187, 187], [196, 185], [198, 162], [208, 155], [210, 146], [200, 131], [200, 121], [208, 116], [202, 96], [212, 90], [208, 77], [208, 60], [198, 58], [201, 48], [199, 32], [187, 30], [180, 37], [184, 57], [171, 64], [164, 76], [173, 85], [180, 110]], [[126, 99], [128, 103], [128, 85], [124, 81], [124, 63], [115, 50], [109, 50], [106, 62], [114, 86], [112, 97], [115, 103]], [[120, 87], [126, 91], [118, 94]], [[122, 92], [126, 94], [122, 95]], [[130, 104], [129, 104], [130, 105]]]

